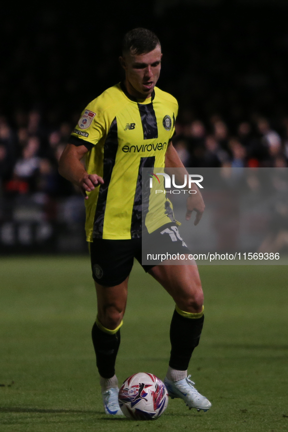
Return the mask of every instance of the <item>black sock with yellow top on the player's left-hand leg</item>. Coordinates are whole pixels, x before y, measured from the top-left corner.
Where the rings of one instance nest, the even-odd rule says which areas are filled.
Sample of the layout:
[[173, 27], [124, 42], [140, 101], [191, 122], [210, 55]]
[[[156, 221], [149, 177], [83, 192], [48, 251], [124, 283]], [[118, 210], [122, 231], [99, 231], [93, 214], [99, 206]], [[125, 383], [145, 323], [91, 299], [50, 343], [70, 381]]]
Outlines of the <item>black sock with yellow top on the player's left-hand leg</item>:
[[120, 327], [122, 323], [121, 321], [115, 330], [109, 330], [100, 323], [97, 317], [92, 328], [96, 365], [102, 378], [109, 379], [115, 375], [115, 361], [120, 345]]

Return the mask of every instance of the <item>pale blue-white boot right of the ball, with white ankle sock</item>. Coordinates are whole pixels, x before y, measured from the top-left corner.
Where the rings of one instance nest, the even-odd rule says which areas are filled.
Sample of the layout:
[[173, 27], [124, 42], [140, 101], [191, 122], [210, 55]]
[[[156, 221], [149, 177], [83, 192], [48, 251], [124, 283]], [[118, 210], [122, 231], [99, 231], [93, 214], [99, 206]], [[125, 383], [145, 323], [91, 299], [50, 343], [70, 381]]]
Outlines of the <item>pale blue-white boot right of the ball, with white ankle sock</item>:
[[164, 379], [164, 384], [168, 391], [168, 396], [170, 396], [171, 399], [175, 397], [183, 399], [190, 410], [191, 408], [196, 408], [197, 411], [203, 410], [206, 412], [212, 405], [205, 396], [202, 396], [202, 394], [195, 389], [195, 383], [189, 379], [190, 376], [191, 375], [176, 382], [170, 381], [170, 379], [166, 377]]

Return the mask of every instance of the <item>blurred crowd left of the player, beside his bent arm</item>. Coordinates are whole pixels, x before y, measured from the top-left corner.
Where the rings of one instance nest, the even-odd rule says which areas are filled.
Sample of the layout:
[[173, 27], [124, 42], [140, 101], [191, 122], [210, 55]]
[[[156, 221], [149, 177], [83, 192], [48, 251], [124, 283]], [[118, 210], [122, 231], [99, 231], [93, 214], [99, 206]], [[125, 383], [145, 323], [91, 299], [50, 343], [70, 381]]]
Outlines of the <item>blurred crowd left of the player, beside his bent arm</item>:
[[3, 196], [43, 192], [50, 197], [76, 190], [58, 174], [58, 160], [69, 139], [71, 126], [63, 122], [47, 131], [38, 111], [18, 112], [17, 127], [0, 118], [0, 178]]

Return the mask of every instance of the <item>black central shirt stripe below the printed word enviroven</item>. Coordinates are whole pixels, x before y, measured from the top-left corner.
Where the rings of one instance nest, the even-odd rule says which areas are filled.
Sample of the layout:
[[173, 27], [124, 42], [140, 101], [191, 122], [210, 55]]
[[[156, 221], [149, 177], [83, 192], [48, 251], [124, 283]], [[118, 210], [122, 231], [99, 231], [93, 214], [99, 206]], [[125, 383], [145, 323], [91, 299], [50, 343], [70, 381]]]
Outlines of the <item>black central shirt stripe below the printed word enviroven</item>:
[[138, 176], [134, 195], [134, 205], [131, 218], [131, 238], [137, 239], [141, 237], [142, 234], [142, 212], [143, 217], [146, 216], [149, 208], [149, 195], [150, 187], [148, 177], [148, 184], [145, 186], [145, 191], [142, 196], [142, 168], [154, 168], [155, 156], [141, 157]]

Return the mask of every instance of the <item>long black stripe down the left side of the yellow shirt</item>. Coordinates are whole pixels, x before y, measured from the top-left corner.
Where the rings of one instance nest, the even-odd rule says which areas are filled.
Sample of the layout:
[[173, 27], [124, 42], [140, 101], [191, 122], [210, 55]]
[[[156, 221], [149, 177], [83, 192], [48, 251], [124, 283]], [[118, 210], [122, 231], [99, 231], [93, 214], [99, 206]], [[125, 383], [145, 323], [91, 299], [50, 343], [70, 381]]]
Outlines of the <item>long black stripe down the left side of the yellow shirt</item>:
[[107, 138], [104, 144], [103, 154], [103, 180], [104, 184], [99, 186], [96, 212], [94, 217], [93, 238], [102, 239], [104, 215], [107, 202], [108, 188], [115, 165], [116, 153], [118, 149], [117, 120], [114, 118], [111, 123]]

